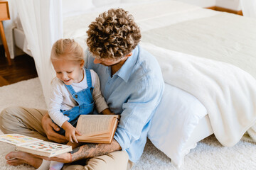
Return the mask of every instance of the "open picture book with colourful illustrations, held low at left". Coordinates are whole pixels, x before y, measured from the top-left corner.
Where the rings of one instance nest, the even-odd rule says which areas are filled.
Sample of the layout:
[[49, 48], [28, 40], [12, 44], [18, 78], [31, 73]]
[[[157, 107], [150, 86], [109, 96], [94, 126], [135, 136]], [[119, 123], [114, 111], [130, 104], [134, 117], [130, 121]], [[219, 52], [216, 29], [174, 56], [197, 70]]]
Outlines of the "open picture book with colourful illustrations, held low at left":
[[16, 145], [16, 149], [19, 151], [45, 157], [55, 157], [58, 154], [72, 151], [72, 147], [68, 145], [47, 142], [34, 137], [28, 137], [19, 134], [0, 135], [0, 142]]

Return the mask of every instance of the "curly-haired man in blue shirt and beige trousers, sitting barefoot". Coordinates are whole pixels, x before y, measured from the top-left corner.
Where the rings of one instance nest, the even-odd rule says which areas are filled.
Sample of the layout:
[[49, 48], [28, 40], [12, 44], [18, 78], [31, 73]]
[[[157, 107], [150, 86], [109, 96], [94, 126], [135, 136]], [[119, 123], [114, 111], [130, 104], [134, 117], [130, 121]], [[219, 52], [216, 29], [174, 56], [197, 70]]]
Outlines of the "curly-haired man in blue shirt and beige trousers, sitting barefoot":
[[[130, 169], [141, 157], [152, 115], [164, 91], [159, 64], [138, 45], [141, 38], [139, 27], [122, 8], [101, 13], [90, 24], [87, 35], [85, 67], [94, 69], [99, 75], [102, 95], [110, 110], [121, 115], [112, 144], [85, 144], [71, 153], [53, 158], [11, 152], [6, 155], [6, 159], [11, 159], [8, 164], [26, 163], [45, 169], [47, 162], [42, 161], [43, 158], [75, 162], [73, 165], [66, 164], [63, 169]], [[31, 122], [31, 119], [34, 120]], [[6, 108], [1, 113], [0, 121], [1, 130], [5, 133], [19, 132], [44, 137], [45, 140], [47, 135], [48, 140], [65, 142], [63, 136], [53, 131], [58, 127], [50, 120], [47, 111]], [[35, 123], [39, 123], [39, 127]], [[80, 165], [76, 161], [80, 161]]]

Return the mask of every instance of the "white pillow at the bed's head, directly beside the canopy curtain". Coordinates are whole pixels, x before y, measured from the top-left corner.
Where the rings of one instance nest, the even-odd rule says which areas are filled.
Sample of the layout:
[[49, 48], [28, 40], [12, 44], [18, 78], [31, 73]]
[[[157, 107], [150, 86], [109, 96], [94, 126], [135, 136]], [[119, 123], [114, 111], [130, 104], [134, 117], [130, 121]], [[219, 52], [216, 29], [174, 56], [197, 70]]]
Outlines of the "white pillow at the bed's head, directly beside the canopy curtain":
[[63, 14], [95, 8], [92, 0], [62, 0]]

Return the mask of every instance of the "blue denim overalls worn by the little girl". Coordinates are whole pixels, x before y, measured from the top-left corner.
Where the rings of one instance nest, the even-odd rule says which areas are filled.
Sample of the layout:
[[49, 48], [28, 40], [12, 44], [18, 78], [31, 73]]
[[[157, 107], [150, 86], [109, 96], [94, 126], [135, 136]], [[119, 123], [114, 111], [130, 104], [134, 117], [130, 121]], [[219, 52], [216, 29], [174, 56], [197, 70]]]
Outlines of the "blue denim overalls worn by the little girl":
[[[94, 101], [92, 98], [92, 77], [90, 74], [90, 69], [85, 69], [86, 79], [87, 79], [87, 88], [82, 89], [81, 91], [75, 92], [73, 87], [71, 85], [66, 85], [66, 88], [72, 95], [72, 97], [75, 99], [76, 102], [78, 102], [78, 106], [74, 106], [68, 111], [60, 110], [63, 115], [68, 116], [70, 120], [68, 122], [76, 127], [76, 124], [78, 123], [78, 117], [79, 115], [87, 115], [92, 113], [94, 108]], [[60, 128], [58, 131], [59, 134], [65, 135], [65, 130], [63, 128]]]

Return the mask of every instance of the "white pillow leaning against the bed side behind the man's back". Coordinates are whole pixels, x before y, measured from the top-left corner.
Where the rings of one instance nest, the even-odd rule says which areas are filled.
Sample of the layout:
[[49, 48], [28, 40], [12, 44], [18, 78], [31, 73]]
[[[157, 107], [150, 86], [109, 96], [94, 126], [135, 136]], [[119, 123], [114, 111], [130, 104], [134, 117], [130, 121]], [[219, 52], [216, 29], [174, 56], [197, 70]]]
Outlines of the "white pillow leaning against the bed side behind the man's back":
[[175, 86], [165, 84], [164, 94], [151, 119], [149, 140], [178, 167], [193, 146], [186, 147], [199, 120], [207, 115], [198, 99]]

